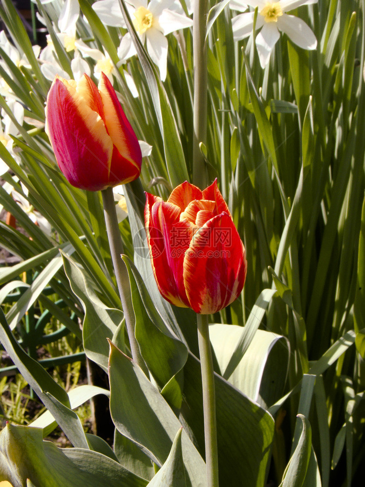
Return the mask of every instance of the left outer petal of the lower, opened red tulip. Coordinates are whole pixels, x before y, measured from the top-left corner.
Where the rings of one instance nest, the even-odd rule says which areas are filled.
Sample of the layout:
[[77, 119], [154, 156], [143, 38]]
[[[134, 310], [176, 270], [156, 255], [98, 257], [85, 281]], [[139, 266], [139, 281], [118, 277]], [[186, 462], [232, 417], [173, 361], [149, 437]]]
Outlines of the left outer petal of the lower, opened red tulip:
[[[183, 232], [175, 230], [174, 240], [174, 232], [171, 232], [173, 225], [183, 227], [179, 223], [180, 208], [156, 196], [146, 195], [145, 225], [157, 285], [165, 300], [176, 306], [187, 307], [189, 302], [183, 286], [183, 257], [192, 235], [189, 237], [185, 225]], [[183, 237], [181, 242], [178, 237]]]

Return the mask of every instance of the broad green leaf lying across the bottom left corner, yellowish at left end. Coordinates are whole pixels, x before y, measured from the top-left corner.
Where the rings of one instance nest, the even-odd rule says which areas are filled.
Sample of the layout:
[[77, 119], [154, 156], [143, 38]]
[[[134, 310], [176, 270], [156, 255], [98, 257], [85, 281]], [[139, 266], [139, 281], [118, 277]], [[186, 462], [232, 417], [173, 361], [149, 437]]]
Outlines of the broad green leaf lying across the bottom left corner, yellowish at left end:
[[42, 487], [145, 487], [147, 482], [101, 453], [59, 449], [42, 430], [7, 424], [0, 433], [0, 481]]

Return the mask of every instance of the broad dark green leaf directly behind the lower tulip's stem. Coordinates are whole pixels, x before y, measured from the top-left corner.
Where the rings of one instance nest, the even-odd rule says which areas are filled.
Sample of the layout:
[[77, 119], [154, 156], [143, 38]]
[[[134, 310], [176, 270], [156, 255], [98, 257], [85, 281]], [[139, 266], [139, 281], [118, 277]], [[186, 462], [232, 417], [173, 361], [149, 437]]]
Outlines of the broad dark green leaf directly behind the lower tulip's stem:
[[[274, 419], [229, 382], [215, 375], [219, 483], [262, 487], [274, 437]], [[201, 368], [189, 354], [184, 367], [184, 421], [204, 451]]]

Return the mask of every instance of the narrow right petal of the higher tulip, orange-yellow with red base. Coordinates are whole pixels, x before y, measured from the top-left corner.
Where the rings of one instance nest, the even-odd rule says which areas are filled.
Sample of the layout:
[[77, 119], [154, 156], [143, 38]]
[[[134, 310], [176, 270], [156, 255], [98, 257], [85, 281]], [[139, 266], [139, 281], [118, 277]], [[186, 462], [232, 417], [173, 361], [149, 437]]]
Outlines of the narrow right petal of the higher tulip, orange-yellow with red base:
[[[108, 133], [114, 146], [121, 155], [121, 160], [117, 161], [114, 157], [115, 153], [113, 154], [112, 160], [114, 164], [110, 169], [116, 180], [119, 179], [119, 181], [127, 183], [135, 179], [135, 175], [138, 175], [141, 171], [141, 148], [137, 136], [123, 112], [117, 95], [115, 94], [108, 77], [104, 73], [101, 74], [98, 89], [103, 102], [105, 124]], [[126, 171], [126, 177], [124, 171]], [[134, 176], [133, 179], [130, 179], [132, 173]]]

